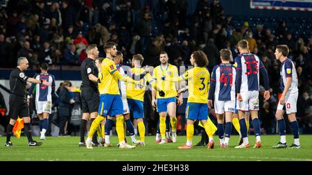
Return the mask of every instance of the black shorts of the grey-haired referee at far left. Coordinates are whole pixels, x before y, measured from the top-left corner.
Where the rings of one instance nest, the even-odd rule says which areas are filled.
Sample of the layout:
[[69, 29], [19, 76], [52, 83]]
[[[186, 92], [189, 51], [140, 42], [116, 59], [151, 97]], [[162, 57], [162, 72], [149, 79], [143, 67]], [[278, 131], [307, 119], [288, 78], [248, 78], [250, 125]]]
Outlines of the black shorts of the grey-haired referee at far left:
[[17, 119], [17, 117], [30, 117], [26, 96], [10, 94], [9, 106], [9, 116], [11, 119]]

